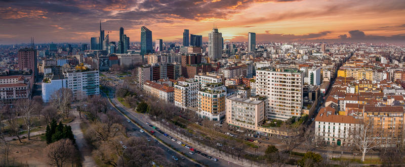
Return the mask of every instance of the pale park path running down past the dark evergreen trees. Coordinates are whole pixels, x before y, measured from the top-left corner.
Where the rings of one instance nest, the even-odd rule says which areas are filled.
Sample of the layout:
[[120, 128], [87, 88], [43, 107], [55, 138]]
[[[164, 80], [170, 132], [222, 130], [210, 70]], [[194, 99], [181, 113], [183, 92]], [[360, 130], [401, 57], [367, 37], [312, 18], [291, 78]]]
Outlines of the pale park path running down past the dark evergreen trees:
[[96, 162], [92, 157], [92, 150], [90, 149], [89, 144], [87, 143], [85, 136], [80, 129], [80, 123], [82, 123], [82, 119], [80, 119], [77, 112], [73, 112], [73, 115], [76, 117], [73, 122], [69, 123], [72, 128], [72, 132], [74, 134], [74, 139], [76, 139], [77, 147], [82, 153], [82, 165], [83, 166], [97, 166]]

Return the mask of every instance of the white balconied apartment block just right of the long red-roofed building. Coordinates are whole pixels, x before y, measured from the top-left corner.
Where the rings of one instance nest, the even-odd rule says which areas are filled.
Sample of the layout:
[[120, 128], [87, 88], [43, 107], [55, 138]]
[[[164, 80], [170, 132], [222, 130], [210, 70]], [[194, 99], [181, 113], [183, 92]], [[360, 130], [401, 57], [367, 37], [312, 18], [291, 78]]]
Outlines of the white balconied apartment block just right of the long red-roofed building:
[[193, 78], [178, 81], [174, 85], [174, 104], [178, 107], [197, 107], [199, 85]]

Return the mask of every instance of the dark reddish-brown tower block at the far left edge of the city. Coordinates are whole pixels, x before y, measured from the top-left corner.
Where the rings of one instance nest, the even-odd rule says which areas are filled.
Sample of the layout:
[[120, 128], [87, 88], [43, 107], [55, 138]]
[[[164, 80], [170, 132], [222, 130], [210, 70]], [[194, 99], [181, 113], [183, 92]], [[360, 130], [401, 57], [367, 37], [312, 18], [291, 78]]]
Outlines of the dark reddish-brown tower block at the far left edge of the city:
[[38, 75], [36, 66], [36, 50], [33, 48], [24, 48], [18, 50], [18, 68], [20, 70], [31, 69], [34, 77]]

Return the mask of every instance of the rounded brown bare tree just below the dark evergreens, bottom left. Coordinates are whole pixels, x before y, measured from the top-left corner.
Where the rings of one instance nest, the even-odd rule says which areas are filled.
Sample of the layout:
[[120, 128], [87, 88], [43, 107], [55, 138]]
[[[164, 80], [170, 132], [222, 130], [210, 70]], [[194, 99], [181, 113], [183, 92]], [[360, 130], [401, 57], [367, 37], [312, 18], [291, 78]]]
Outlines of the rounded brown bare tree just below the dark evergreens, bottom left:
[[58, 167], [62, 167], [65, 162], [70, 161], [74, 158], [74, 154], [77, 153], [76, 148], [69, 139], [61, 139], [49, 144], [45, 148], [45, 152], [49, 164]]

